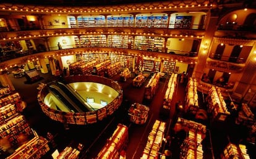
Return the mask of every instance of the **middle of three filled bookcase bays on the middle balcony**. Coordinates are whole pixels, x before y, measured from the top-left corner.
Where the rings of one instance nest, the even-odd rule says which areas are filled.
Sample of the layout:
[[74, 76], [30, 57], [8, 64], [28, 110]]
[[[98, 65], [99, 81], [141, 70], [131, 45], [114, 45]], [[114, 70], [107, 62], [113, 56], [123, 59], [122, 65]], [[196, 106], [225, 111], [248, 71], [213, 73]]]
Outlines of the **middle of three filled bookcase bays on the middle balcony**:
[[133, 49], [133, 37], [130, 35], [109, 35], [108, 47], [119, 47], [124, 49]]

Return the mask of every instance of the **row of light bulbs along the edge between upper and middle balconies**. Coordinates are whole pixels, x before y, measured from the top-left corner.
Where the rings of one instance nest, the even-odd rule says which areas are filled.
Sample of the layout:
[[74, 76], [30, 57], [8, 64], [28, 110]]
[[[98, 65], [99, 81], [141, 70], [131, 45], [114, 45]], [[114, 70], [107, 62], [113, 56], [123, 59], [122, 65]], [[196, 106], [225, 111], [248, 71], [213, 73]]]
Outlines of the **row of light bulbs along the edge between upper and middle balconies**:
[[[79, 33], [81, 34], [103, 34], [103, 32], [83, 32]], [[108, 34], [116, 34], [117, 32], [108, 32]], [[56, 36], [56, 35], [74, 35], [74, 33], [51, 33], [51, 34], [43, 34], [43, 35], [28, 35], [28, 36], [19, 36], [19, 37], [9, 37], [9, 38], [2, 38], [2, 40], [11, 40], [11, 39], [26, 39], [26, 38], [36, 38], [36, 37], [42, 37], [42, 36]], [[154, 33], [127, 33], [127, 32], [121, 32], [121, 35], [155, 35]], [[173, 34], [161, 34], [160, 36], [172, 36], [172, 37], [186, 37], [186, 38], [203, 38], [204, 36], [194, 36], [194, 35], [173, 35]]]

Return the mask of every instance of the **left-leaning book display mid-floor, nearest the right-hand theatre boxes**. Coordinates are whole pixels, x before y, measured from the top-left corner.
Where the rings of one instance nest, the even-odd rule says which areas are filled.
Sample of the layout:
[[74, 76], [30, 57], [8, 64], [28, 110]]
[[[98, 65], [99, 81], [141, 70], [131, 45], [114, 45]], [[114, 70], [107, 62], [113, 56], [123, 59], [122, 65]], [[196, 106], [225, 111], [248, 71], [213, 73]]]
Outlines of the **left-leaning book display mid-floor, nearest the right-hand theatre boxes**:
[[220, 88], [212, 86], [207, 96], [208, 113], [211, 113], [213, 120], [225, 121], [230, 115]]

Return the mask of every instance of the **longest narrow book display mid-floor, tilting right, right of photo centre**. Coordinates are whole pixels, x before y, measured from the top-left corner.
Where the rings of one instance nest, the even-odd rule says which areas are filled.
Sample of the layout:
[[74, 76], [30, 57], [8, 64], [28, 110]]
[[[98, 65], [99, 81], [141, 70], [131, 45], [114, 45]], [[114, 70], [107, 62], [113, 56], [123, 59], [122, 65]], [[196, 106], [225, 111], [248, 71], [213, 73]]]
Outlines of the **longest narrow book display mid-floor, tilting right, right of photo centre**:
[[173, 94], [176, 89], [177, 84], [177, 73], [171, 74], [171, 77], [168, 81], [168, 88], [164, 94], [163, 108], [170, 109], [171, 102], [173, 100]]

